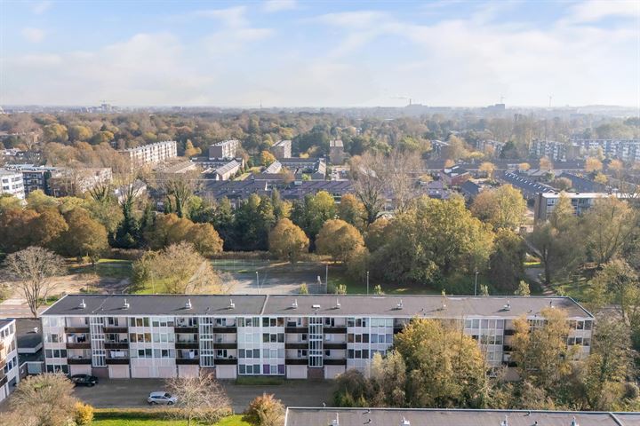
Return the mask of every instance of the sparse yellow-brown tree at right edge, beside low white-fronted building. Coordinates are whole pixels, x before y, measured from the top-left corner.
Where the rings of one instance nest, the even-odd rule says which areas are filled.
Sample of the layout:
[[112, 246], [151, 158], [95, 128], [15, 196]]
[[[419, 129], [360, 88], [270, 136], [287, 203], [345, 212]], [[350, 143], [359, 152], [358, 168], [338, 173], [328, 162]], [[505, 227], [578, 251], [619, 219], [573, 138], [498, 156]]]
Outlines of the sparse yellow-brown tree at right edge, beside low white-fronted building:
[[594, 260], [602, 265], [618, 256], [632, 240], [638, 213], [627, 201], [615, 197], [597, 199], [585, 214], [588, 248]]

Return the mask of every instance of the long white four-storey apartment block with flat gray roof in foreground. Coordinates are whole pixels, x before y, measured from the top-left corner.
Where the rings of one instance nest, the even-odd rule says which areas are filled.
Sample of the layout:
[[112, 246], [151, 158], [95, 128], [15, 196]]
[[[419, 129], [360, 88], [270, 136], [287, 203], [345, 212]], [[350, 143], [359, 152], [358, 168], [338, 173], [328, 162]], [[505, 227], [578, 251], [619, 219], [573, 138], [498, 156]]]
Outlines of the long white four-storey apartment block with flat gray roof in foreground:
[[548, 307], [566, 312], [567, 344], [586, 356], [594, 318], [569, 297], [69, 295], [42, 313], [42, 325], [49, 372], [332, 379], [366, 369], [413, 318], [453, 321], [490, 365], [513, 367], [514, 319], [540, 327]]

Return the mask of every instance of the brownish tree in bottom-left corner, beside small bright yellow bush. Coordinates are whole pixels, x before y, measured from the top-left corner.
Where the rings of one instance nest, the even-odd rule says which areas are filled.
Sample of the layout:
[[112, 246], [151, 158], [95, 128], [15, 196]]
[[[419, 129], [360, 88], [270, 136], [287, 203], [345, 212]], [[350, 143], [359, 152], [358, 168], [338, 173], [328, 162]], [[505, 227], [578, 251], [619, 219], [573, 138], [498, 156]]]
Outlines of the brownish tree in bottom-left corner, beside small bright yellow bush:
[[74, 421], [73, 388], [65, 375], [29, 375], [12, 393], [12, 412], [25, 426], [68, 426]]

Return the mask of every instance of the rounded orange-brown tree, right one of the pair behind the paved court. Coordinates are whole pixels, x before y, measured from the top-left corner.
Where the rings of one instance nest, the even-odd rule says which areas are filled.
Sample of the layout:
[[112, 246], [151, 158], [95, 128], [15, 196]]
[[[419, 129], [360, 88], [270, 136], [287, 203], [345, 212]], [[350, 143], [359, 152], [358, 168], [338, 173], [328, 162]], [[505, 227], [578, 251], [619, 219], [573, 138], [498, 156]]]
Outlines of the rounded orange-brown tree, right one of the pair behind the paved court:
[[334, 261], [347, 262], [349, 256], [364, 249], [364, 239], [354, 225], [344, 220], [331, 219], [316, 237], [318, 254], [330, 255]]

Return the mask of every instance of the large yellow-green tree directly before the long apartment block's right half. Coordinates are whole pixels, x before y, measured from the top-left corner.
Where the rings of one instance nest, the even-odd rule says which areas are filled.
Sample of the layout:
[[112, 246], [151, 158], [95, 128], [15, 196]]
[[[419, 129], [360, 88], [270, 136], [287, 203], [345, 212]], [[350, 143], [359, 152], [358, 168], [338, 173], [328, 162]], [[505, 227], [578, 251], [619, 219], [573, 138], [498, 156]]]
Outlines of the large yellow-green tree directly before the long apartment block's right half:
[[436, 319], [412, 319], [394, 338], [404, 359], [409, 406], [483, 405], [486, 365], [477, 342]]

